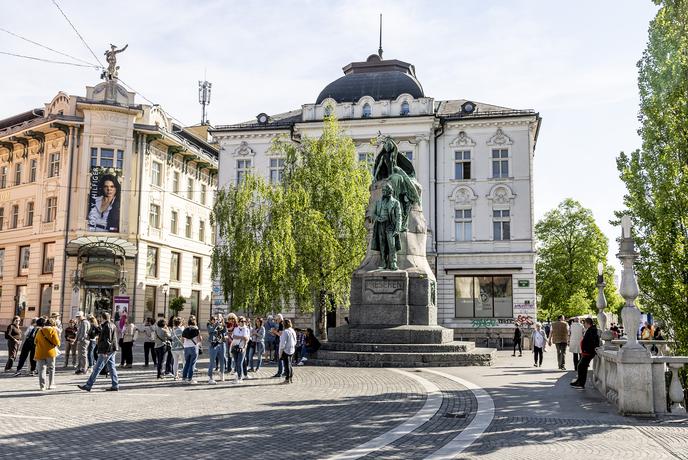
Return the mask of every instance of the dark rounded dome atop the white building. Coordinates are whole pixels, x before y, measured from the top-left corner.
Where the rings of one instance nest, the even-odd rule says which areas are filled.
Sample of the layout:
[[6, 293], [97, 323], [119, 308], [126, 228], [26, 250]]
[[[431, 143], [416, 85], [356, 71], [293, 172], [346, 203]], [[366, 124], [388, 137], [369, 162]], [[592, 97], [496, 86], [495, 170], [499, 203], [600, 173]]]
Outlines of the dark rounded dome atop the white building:
[[332, 98], [336, 102], [356, 102], [363, 96], [376, 101], [394, 100], [407, 93], [414, 98], [425, 97], [411, 64], [396, 59], [382, 60], [376, 54], [365, 62], [352, 62], [344, 67], [344, 76], [320, 92], [316, 104]]

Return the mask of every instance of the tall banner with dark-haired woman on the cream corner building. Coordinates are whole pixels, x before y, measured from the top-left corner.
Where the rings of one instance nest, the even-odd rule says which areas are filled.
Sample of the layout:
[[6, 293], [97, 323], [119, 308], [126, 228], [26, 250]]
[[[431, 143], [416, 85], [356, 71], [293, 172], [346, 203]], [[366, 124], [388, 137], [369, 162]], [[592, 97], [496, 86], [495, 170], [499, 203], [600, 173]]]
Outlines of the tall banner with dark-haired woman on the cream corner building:
[[122, 186], [121, 171], [91, 167], [91, 191], [88, 198], [88, 230], [119, 233]]

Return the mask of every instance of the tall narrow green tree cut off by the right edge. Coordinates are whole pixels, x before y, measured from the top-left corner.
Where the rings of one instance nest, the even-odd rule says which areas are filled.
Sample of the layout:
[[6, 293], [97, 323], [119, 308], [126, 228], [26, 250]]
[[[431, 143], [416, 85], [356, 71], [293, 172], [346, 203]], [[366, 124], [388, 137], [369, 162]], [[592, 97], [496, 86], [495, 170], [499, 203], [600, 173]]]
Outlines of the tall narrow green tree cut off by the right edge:
[[621, 153], [626, 210], [640, 257], [644, 310], [688, 351], [688, 2], [655, 1], [638, 62], [642, 148]]

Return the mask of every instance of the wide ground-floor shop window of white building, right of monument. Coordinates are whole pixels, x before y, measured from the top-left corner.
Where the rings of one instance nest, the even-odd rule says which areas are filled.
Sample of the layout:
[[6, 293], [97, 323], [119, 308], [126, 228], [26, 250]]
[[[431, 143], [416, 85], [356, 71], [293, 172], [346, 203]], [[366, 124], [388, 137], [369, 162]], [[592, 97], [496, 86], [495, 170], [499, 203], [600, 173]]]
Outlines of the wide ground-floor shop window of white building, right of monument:
[[457, 318], [513, 318], [511, 276], [456, 276]]

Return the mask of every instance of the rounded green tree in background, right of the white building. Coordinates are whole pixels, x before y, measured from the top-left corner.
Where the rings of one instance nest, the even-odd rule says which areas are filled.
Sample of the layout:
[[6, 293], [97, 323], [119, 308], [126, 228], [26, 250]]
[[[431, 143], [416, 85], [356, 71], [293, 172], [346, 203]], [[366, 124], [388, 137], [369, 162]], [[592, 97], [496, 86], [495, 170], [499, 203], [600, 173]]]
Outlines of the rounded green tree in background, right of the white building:
[[[567, 198], [535, 225], [535, 237], [540, 319], [596, 312], [597, 264], [607, 265], [607, 238], [592, 212]], [[614, 301], [612, 267], [606, 267], [604, 277], [605, 295]]]

